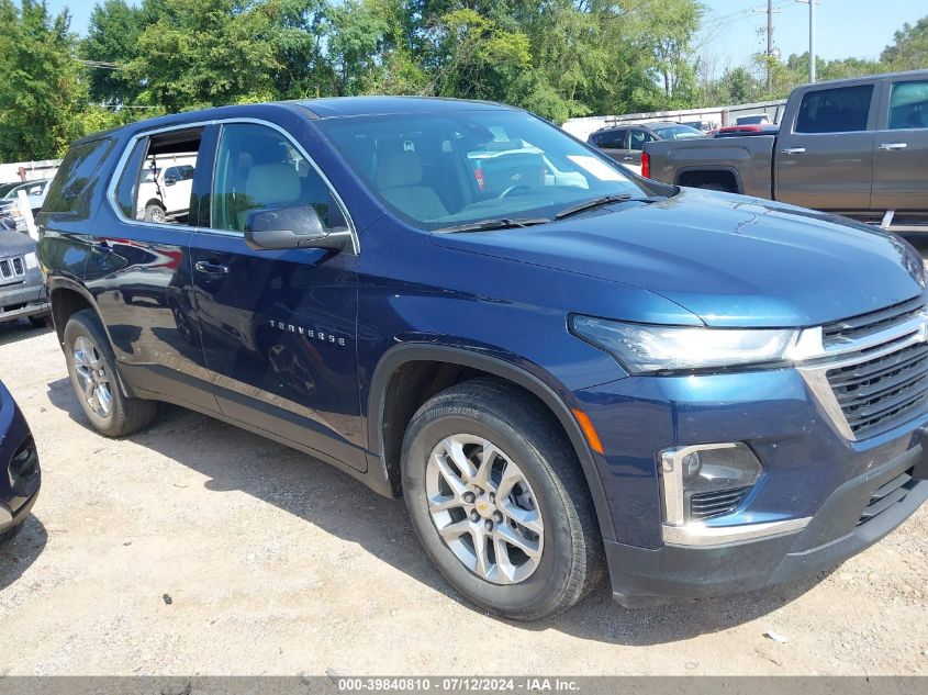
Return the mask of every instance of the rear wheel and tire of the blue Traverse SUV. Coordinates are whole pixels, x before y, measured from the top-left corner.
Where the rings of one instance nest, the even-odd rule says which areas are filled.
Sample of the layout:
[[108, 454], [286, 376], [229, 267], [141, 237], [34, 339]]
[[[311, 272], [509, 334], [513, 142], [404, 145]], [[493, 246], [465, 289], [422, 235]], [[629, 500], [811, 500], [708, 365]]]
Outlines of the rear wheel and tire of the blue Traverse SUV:
[[123, 395], [113, 349], [92, 309], [71, 315], [65, 325], [64, 345], [75, 395], [97, 431], [124, 437], [154, 422], [154, 401]]

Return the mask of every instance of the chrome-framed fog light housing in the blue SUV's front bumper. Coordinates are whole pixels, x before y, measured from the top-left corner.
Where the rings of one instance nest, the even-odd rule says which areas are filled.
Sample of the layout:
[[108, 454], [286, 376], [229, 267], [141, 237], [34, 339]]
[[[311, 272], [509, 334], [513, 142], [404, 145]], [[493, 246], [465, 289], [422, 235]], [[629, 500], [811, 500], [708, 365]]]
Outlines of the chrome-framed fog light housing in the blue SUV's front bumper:
[[659, 455], [663, 523], [682, 526], [735, 511], [763, 467], [745, 444], [703, 444]]

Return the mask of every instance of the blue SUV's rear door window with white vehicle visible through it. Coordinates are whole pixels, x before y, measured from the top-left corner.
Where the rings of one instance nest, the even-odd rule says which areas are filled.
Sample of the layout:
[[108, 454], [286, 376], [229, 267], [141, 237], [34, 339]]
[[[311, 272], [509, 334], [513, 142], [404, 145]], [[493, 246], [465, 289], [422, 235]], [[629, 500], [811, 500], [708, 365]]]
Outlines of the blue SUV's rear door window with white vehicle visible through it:
[[[202, 134], [202, 128], [169, 131], [136, 143], [115, 190], [123, 215], [156, 224], [188, 224]], [[190, 178], [185, 178], [182, 170], [188, 167]], [[168, 176], [169, 171], [175, 176]]]

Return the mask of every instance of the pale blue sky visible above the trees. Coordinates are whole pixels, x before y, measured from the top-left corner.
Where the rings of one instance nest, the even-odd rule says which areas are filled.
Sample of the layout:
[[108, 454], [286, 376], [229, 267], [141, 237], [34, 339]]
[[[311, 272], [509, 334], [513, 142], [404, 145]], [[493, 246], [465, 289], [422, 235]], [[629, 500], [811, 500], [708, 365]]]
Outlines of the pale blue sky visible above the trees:
[[[713, 54], [719, 72], [728, 65], [749, 61], [752, 54], [767, 49], [767, 38], [758, 30], [767, 25], [767, 0], [704, 0], [709, 8], [706, 22], [708, 43], [703, 53]], [[71, 11], [71, 27], [85, 33], [93, 0], [69, 2], [48, 0], [58, 12]], [[774, 44], [783, 56], [808, 49], [808, 4], [774, 0]], [[763, 9], [753, 13], [752, 9]], [[928, 14], [925, 0], [819, 0], [816, 5], [816, 53], [831, 58], [876, 58], [905, 22], [914, 24]]]

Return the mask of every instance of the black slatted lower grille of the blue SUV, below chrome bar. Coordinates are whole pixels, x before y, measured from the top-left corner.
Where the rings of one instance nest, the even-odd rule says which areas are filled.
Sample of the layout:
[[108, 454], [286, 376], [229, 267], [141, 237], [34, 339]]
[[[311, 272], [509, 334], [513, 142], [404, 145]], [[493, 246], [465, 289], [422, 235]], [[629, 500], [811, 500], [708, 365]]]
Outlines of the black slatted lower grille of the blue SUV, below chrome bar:
[[928, 400], [928, 345], [918, 343], [831, 369], [828, 382], [854, 437], [888, 429], [916, 415]]

